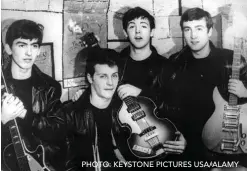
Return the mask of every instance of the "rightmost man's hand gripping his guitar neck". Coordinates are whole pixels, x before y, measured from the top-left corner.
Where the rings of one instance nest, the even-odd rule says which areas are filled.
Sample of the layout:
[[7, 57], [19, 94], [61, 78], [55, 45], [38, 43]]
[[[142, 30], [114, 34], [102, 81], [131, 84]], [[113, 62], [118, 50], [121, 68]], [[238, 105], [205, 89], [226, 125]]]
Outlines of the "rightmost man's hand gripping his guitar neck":
[[229, 79], [228, 91], [235, 94], [239, 98], [247, 97], [247, 89], [240, 80]]

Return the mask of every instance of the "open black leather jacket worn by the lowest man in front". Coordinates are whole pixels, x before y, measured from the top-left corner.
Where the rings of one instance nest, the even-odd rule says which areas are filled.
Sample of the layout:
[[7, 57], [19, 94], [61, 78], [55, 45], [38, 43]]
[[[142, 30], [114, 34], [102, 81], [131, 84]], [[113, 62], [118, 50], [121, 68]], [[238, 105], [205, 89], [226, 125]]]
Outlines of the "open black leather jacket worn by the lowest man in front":
[[[67, 159], [66, 170], [86, 170], [81, 166], [82, 161], [94, 161], [92, 145], [95, 144], [95, 119], [89, 100], [90, 89], [86, 89], [76, 102], [67, 102], [64, 105], [67, 126]], [[121, 106], [121, 100], [114, 97], [110, 107], [112, 110], [112, 133], [116, 147], [122, 155], [128, 154], [126, 146], [128, 132], [122, 129], [117, 121], [117, 112]], [[121, 143], [122, 142], [122, 143]]]

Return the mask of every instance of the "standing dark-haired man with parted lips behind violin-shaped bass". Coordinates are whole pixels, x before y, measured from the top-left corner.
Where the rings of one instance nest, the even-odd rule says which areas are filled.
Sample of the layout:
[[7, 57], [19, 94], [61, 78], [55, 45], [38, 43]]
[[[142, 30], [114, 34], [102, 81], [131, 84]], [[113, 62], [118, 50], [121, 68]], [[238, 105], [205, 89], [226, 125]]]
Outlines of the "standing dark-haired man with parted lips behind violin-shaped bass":
[[[129, 39], [130, 46], [125, 48], [120, 57], [123, 60], [123, 76], [118, 87], [118, 95], [121, 99], [127, 96], [146, 96], [151, 98], [159, 108], [162, 97], [158, 75], [162, 67], [166, 68], [166, 74], [172, 73], [170, 62], [159, 55], [151, 45], [154, 33], [154, 17], [146, 10], [135, 7], [129, 9], [123, 16], [123, 29]], [[177, 141], [167, 141], [164, 144], [167, 152], [183, 153], [186, 140], [180, 132], [177, 132]]]

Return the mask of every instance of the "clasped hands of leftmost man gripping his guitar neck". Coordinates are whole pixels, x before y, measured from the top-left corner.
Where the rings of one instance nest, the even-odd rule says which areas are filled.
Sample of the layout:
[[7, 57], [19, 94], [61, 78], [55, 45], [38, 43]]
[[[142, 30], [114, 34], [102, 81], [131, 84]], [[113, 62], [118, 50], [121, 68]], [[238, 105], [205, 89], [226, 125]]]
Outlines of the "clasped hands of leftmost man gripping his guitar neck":
[[24, 118], [27, 110], [18, 97], [12, 94], [4, 93], [2, 100], [2, 123], [6, 124], [8, 121], [17, 117]]

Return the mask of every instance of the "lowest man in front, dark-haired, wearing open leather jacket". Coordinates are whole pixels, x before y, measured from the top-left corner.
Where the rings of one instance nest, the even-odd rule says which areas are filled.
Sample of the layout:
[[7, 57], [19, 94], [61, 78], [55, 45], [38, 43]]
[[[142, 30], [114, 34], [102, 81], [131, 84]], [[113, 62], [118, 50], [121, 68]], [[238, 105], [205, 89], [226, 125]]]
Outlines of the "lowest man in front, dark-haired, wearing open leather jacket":
[[[118, 53], [114, 50], [94, 48], [88, 55], [86, 78], [89, 87], [76, 102], [67, 103], [64, 110], [68, 171], [90, 170], [93, 166], [96, 170], [114, 170], [114, 161], [125, 161], [120, 153], [125, 150], [118, 144], [127, 138], [119, 140], [123, 136], [120, 137], [117, 122], [122, 102], [115, 93], [120, 78], [119, 66]], [[100, 162], [104, 165], [100, 166]]]

